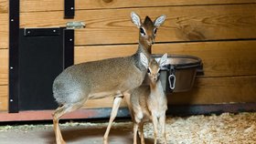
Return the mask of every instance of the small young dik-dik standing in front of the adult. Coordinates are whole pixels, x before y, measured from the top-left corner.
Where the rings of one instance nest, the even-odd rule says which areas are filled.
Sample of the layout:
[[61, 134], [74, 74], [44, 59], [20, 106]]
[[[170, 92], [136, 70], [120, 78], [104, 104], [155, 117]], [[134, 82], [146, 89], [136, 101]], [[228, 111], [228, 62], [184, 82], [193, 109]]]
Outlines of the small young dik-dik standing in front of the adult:
[[[144, 144], [144, 122], [152, 120], [154, 125], [154, 138], [156, 144], [158, 120], [165, 139], [165, 111], [167, 99], [161, 81], [158, 79], [160, 67], [165, 65], [167, 54], [159, 62], [154, 58], [148, 64], [148, 85], [142, 85], [131, 91], [130, 110], [133, 118], [133, 144], [137, 143], [137, 131], [140, 127], [141, 143]], [[146, 64], [145, 64], [146, 65]]]

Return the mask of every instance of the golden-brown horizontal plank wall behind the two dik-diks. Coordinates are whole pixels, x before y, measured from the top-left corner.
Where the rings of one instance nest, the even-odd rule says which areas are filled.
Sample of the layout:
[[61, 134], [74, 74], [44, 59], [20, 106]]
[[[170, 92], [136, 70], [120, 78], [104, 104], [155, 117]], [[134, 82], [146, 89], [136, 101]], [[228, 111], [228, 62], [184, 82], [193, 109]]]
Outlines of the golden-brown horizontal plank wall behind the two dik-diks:
[[[153, 46], [153, 53], [200, 57], [205, 71], [192, 91], [169, 96], [170, 104], [256, 102], [255, 0], [77, 0], [75, 19], [63, 19], [64, 0], [20, 1], [20, 27], [86, 23], [86, 28], [75, 32], [75, 63], [133, 54], [138, 30], [130, 21], [131, 11], [153, 19], [165, 14], [165, 24], [156, 36], [161, 43]], [[4, 111], [8, 98], [7, 2], [0, 0], [0, 110]], [[87, 106], [111, 107], [112, 98], [91, 100]]]

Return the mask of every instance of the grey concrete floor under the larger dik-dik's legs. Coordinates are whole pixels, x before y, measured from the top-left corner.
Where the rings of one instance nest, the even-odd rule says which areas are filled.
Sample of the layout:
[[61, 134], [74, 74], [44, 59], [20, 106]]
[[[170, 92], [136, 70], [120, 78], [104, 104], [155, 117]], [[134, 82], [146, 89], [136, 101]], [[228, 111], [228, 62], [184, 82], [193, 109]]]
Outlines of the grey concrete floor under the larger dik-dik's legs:
[[[132, 123], [129, 123], [129, 125]], [[55, 135], [51, 125], [16, 127], [7, 130], [0, 129], [0, 144], [54, 144]], [[69, 144], [101, 144], [106, 125], [93, 126], [60, 126], [63, 139]], [[132, 126], [118, 126], [111, 130], [110, 144], [133, 143]], [[145, 139], [146, 143], [154, 143], [153, 139]]]

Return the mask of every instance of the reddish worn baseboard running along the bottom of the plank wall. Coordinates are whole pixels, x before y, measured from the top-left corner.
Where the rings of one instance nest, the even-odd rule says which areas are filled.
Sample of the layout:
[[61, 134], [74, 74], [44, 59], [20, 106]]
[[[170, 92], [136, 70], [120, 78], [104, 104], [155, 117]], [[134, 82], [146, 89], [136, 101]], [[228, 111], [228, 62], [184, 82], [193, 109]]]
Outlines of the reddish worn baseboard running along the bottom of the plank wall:
[[[209, 115], [220, 113], [238, 113], [255, 111], [255, 103], [235, 103], [235, 104], [214, 104], [214, 105], [169, 105], [166, 111], [167, 116], [187, 116], [187, 115]], [[80, 108], [70, 112], [61, 119], [81, 119], [81, 118], [110, 118], [112, 108]], [[31, 121], [31, 120], [52, 120], [53, 110], [29, 110], [19, 113], [0, 112], [0, 122], [9, 121]], [[128, 108], [119, 108], [117, 118], [130, 117]]]

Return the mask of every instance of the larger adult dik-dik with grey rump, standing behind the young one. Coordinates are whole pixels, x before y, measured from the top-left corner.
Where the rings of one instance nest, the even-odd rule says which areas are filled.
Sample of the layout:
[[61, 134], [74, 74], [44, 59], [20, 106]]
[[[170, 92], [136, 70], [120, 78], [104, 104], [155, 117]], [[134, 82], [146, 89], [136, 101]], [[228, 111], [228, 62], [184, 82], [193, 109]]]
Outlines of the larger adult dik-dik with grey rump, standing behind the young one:
[[155, 40], [156, 28], [164, 23], [165, 15], [156, 18], [155, 22], [146, 16], [144, 23], [135, 13], [131, 16], [133, 23], [140, 29], [139, 47], [133, 56], [74, 65], [66, 68], [54, 80], [53, 96], [59, 108], [53, 113], [53, 124], [58, 144], [65, 143], [59, 129], [61, 116], [82, 107], [88, 99], [113, 97], [112, 114], [104, 136], [104, 143], [107, 143], [112, 120], [116, 117], [123, 96], [144, 81], [147, 67], [144, 67], [143, 60], [151, 57], [150, 49]]

